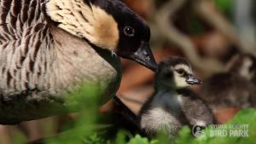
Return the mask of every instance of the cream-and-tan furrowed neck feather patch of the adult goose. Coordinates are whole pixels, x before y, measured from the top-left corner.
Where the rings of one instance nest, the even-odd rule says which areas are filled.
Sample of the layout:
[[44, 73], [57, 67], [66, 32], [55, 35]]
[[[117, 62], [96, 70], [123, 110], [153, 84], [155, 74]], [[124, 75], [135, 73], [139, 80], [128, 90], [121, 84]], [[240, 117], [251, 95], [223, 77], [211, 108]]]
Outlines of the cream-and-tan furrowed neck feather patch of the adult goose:
[[59, 22], [61, 29], [77, 37], [86, 37], [103, 49], [117, 47], [118, 24], [100, 7], [84, 3], [84, 0], [50, 0], [45, 7], [50, 19]]

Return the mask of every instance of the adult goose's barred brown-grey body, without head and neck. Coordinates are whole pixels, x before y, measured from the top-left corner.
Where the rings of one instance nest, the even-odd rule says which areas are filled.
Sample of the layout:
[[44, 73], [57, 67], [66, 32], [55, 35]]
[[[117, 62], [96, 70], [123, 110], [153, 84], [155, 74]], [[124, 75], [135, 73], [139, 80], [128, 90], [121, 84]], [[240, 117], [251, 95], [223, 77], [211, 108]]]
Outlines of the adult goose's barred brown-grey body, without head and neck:
[[[119, 88], [120, 61], [111, 52], [48, 23], [41, 0], [0, 0], [0, 123], [59, 114], [64, 89]], [[84, 95], [86, 96], [86, 95]]]

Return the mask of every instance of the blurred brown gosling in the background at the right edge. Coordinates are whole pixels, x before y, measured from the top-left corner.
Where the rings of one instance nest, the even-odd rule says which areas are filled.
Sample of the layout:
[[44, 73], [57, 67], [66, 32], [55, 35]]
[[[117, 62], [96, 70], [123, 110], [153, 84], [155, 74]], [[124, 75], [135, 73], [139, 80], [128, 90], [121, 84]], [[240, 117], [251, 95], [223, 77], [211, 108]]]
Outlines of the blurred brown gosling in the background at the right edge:
[[256, 59], [240, 54], [230, 60], [226, 72], [207, 78], [202, 84], [201, 98], [214, 109], [256, 106]]

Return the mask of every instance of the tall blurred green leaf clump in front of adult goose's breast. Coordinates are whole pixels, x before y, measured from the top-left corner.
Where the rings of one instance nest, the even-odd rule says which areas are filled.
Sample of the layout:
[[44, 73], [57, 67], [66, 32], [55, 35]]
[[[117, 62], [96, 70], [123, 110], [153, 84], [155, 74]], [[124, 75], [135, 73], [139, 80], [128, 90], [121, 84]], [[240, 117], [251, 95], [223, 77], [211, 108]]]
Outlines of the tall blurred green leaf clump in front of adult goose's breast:
[[[73, 109], [79, 106], [79, 109], [81, 109], [80, 118], [76, 124], [73, 124], [72, 130], [68, 130], [61, 135], [48, 140], [47, 144], [84, 144], [84, 142], [86, 142], [84, 137], [89, 137], [89, 140], [94, 141], [95, 143], [102, 141], [100, 138], [97, 138], [96, 135], [91, 135], [97, 129], [95, 124], [98, 115], [96, 113], [98, 99], [101, 95], [101, 90], [97, 88], [99, 87], [96, 84], [83, 84], [83, 86], [74, 89], [73, 92], [66, 95], [66, 101], [69, 107]], [[68, 103], [68, 101], [74, 101], [74, 103]]]

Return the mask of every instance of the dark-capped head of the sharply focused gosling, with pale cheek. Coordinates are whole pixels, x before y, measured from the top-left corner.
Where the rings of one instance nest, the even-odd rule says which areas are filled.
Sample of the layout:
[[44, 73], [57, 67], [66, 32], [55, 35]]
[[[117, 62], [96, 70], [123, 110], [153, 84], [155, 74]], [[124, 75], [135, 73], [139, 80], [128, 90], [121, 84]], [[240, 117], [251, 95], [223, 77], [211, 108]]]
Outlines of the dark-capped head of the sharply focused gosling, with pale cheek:
[[170, 57], [159, 64], [156, 74], [156, 86], [183, 89], [190, 85], [201, 84], [189, 63], [181, 57]]

